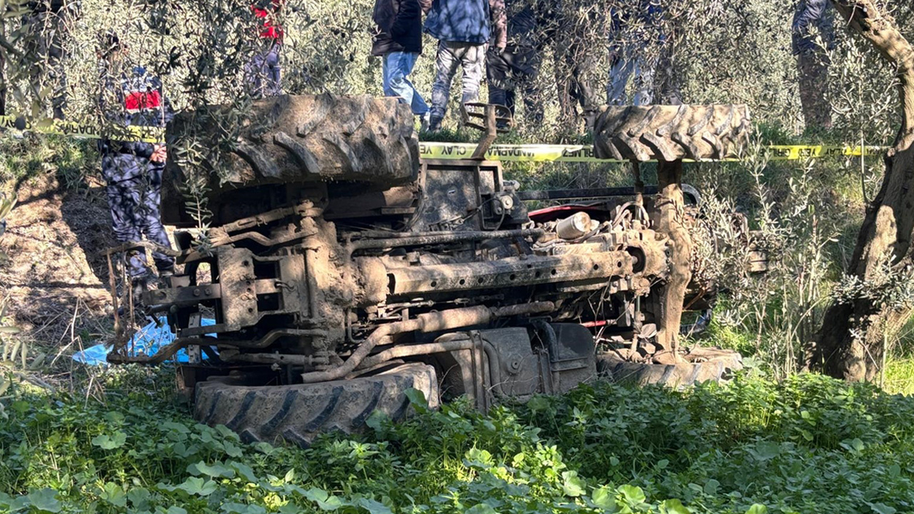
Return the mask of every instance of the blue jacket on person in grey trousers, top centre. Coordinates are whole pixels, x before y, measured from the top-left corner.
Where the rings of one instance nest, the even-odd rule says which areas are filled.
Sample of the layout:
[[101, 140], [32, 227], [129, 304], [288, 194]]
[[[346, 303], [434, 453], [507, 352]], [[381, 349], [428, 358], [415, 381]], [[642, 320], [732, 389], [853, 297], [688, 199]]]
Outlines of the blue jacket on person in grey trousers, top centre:
[[425, 31], [439, 41], [505, 48], [505, 0], [434, 0]]

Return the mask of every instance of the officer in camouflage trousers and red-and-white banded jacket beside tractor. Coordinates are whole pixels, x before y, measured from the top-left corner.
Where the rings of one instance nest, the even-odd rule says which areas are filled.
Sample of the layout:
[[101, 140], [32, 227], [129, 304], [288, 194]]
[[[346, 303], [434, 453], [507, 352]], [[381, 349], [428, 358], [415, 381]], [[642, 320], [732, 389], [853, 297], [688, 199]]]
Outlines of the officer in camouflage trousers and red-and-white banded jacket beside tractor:
[[[173, 116], [162, 91], [162, 82], [149, 75], [142, 66], [127, 59], [127, 46], [112, 33], [105, 35], [101, 50], [101, 112], [116, 126], [165, 128]], [[112, 228], [122, 243], [142, 241], [143, 236], [165, 248], [171, 248], [162, 226], [162, 176], [165, 171], [165, 145], [101, 139], [101, 175], [108, 183], [106, 193], [112, 213]], [[127, 273], [134, 291], [145, 287], [151, 277], [145, 251], [129, 252]], [[174, 274], [175, 260], [162, 252], [153, 252], [160, 277]]]

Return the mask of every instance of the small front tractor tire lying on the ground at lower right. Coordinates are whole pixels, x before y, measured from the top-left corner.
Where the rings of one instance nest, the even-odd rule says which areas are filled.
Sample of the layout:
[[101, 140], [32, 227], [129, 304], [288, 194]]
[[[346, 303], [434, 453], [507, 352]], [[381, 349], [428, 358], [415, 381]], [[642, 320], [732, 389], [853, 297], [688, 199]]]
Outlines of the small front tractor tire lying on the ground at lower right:
[[597, 355], [600, 377], [619, 383], [658, 384], [680, 389], [698, 383], [729, 380], [733, 371], [742, 369], [742, 357], [735, 351], [721, 351], [719, 356], [703, 362], [678, 364], [645, 364], [622, 359], [612, 353]]

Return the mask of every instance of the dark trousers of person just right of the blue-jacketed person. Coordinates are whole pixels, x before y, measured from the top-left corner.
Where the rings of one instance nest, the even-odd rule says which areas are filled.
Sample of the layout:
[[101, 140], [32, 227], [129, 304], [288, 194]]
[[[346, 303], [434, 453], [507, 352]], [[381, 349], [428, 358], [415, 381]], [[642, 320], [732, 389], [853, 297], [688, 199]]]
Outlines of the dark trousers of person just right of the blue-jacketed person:
[[489, 80], [489, 103], [505, 105], [515, 115], [516, 95], [523, 95], [526, 117], [543, 122], [543, 102], [537, 88], [541, 59], [537, 48], [508, 45], [505, 51], [490, 48], [485, 56], [485, 73]]

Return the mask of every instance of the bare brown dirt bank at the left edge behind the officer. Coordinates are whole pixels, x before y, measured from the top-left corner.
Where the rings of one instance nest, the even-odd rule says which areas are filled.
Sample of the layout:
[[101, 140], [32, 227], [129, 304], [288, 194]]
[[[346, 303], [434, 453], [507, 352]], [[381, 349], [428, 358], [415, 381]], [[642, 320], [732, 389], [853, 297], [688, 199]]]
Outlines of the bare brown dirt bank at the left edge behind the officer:
[[0, 294], [16, 325], [49, 344], [102, 336], [112, 323], [103, 252], [114, 242], [103, 185], [68, 188], [51, 172], [23, 183], [17, 199], [0, 238], [9, 258]]

